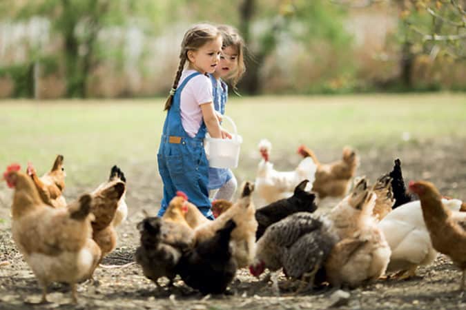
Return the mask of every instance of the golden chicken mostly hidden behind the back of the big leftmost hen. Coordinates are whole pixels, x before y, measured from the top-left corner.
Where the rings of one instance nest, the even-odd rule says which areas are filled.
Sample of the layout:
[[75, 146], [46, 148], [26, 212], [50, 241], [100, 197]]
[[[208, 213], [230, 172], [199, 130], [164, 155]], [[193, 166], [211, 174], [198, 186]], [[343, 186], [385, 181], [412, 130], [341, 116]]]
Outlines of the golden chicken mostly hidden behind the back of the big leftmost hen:
[[63, 160], [63, 155], [58, 155], [50, 172], [47, 172], [40, 178], [37, 176], [36, 169], [32, 163], [28, 163], [28, 175], [34, 181], [42, 201], [55, 208], [66, 207], [66, 199], [62, 194], [65, 189], [66, 177]]

